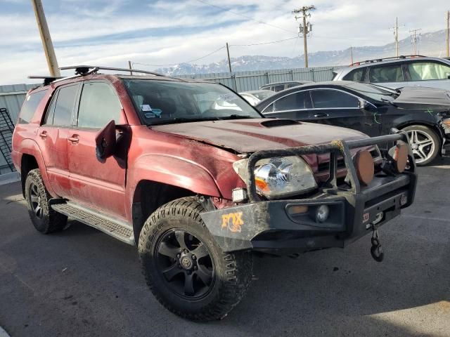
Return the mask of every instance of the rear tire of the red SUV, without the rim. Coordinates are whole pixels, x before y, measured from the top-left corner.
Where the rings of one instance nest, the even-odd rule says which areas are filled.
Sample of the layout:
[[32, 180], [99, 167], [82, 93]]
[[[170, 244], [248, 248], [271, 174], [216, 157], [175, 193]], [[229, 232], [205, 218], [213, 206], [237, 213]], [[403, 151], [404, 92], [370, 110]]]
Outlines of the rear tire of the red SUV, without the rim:
[[[34, 207], [32, 206], [32, 192], [31, 188], [35, 186], [34, 190], [39, 194], [39, 205], [41, 210], [37, 216], [34, 212]], [[27, 201], [28, 213], [30, 213], [30, 218], [39, 232], [42, 234], [49, 234], [51, 232], [57, 232], [63, 230], [68, 223], [68, 217], [63, 216], [56, 211], [53, 211], [49, 205], [50, 195], [47, 192], [44, 181], [42, 181], [41, 173], [39, 169], [34, 169], [28, 172], [27, 179], [25, 180], [25, 200]]]

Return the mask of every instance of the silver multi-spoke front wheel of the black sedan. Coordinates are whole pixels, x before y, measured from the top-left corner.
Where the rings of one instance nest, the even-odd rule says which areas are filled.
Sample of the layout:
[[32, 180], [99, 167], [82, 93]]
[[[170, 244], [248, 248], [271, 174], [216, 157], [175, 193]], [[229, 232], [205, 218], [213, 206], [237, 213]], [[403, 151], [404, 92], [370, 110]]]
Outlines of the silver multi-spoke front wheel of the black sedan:
[[430, 164], [439, 154], [439, 137], [428, 126], [411, 125], [403, 129], [409, 136], [414, 159], [418, 166]]

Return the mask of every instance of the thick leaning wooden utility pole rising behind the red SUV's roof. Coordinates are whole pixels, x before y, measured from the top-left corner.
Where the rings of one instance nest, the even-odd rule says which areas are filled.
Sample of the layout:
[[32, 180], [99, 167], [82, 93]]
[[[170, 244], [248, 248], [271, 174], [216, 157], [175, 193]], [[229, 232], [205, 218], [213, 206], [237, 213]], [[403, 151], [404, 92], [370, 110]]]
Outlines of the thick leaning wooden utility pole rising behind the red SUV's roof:
[[44, 14], [44, 7], [42, 7], [41, 0], [31, 1], [34, 9], [34, 15], [36, 15], [37, 28], [41, 35], [42, 46], [44, 47], [44, 53], [49, 66], [50, 76], [60, 77], [58, 69], [58, 61], [56, 60], [55, 50], [53, 49], [53, 43], [51, 42], [49, 26]]

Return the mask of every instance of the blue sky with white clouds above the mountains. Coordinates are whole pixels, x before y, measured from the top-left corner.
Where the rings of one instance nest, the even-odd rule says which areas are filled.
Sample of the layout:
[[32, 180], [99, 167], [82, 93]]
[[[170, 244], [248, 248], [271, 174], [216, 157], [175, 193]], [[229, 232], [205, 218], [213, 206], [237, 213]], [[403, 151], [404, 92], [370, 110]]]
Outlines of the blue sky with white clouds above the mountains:
[[[291, 11], [294, 0], [42, 0], [60, 66], [94, 63], [126, 67], [127, 60], [169, 65], [201, 58], [230, 44], [258, 44], [297, 35]], [[393, 41], [395, 16], [404, 27], [423, 32], [443, 29], [450, 4], [434, 0], [316, 0], [311, 15], [309, 51], [349, 46], [384, 45]], [[307, 4], [307, 3], [305, 3]], [[308, 3], [309, 4], [309, 3]], [[264, 23], [262, 23], [264, 22]], [[28, 74], [46, 74], [30, 0], [0, 0], [0, 84], [27, 81]], [[301, 55], [296, 39], [279, 44], [234, 46], [231, 56]], [[224, 59], [222, 49], [198, 63]], [[152, 70], [153, 66], [141, 66]]]

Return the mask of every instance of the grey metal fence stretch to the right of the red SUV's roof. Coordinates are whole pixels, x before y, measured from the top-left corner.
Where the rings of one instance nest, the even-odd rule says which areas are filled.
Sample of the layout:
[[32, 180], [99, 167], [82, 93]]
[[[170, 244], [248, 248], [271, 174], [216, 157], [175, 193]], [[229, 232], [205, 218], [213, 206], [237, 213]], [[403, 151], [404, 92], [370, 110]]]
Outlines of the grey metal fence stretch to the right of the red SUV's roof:
[[333, 70], [339, 67], [314, 67], [295, 68], [283, 70], [255, 70], [251, 72], [229, 72], [213, 74], [181, 75], [178, 77], [187, 79], [206, 79], [216, 81], [238, 92], [257, 90], [264, 84], [282, 81], [330, 81], [333, 78]]

